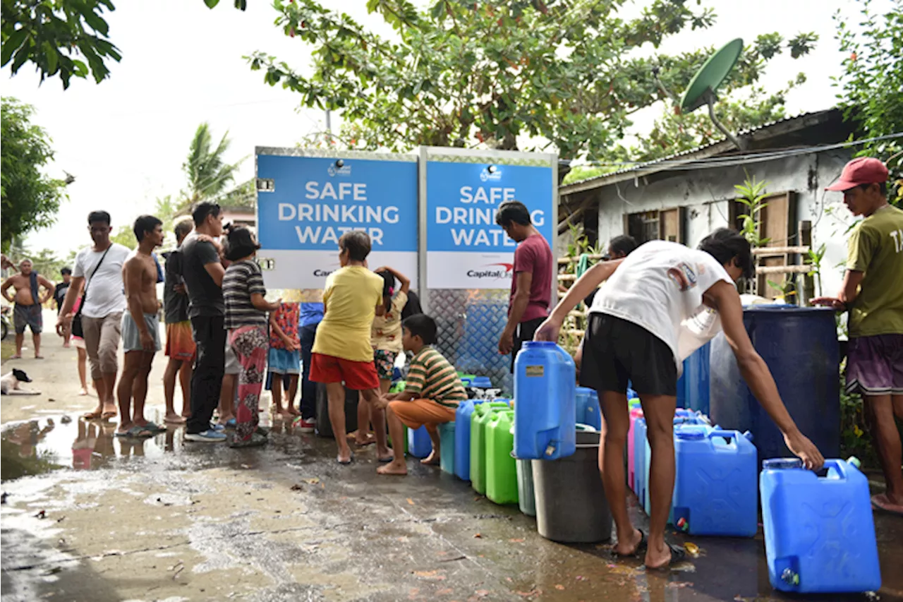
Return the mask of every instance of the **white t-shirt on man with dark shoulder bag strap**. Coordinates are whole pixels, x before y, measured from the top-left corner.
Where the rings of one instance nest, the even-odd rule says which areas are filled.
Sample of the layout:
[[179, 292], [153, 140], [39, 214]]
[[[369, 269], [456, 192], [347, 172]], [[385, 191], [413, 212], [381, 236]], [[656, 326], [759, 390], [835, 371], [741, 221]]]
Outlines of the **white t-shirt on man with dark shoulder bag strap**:
[[[127, 247], [112, 243], [103, 263], [100, 258], [106, 251], [96, 251], [91, 247], [81, 249], [75, 256], [72, 277], [84, 277], [88, 297], [81, 308], [81, 315], [106, 317], [126, 310], [126, 289], [122, 281], [122, 267], [130, 251]], [[100, 267], [98, 268], [98, 263]], [[97, 272], [95, 273], [95, 268]], [[85, 290], [82, 288], [82, 290]]]

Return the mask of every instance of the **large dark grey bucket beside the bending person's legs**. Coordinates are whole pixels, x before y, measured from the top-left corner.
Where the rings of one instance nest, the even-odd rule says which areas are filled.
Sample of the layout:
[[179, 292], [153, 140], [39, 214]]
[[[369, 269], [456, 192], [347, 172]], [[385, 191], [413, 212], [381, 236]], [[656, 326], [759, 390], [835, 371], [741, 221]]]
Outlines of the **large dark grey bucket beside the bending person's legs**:
[[539, 534], [561, 543], [610, 541], [611, 513], [599, 474], [599, 433], [578, 430], [573, 456], [532, 462]]

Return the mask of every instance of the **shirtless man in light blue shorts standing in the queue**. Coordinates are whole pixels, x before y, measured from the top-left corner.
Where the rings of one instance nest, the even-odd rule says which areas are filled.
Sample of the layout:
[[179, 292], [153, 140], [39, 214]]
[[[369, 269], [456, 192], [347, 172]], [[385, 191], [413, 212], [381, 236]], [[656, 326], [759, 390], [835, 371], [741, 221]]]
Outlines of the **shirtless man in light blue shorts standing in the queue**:
[[163, 244], [163, 222], [153, 215], [142, 215], [135, 220], [134, 230], [138, 248], [122, 267], [128, 306], [122, 315], [122, 347], [126, 362], [116, 387], [119, 398], [116, 437], [151, 437], [165, 430], [144, 419], [147, 375], [151, 372], [154, 353], [160, 351], [157, 266], [151, 253]]

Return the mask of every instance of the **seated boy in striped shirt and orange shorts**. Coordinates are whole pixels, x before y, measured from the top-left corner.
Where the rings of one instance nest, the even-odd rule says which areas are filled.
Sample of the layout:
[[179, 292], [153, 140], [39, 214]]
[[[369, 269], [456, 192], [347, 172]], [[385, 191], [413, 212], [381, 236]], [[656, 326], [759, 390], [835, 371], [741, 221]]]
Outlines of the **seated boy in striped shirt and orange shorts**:
[[439, 464], [439, 431], [437, 427], [451, 422], [458, 403], [467, 399], [467, 391], [461, 384], [454, 366], [433, 349], [436, 342], [436, 323], [429, 315], [411, 315], [402, 323], [402, 345], [405, 352], [414, 353], [407, 374], [405, 390], [383, 396], [377, 407], [387, 408], [386, 419], [392, 450], [395, 456], [390, 464], [380, 466], [380, 475], [407, 475], [405, 446], [402, 444], [407, 428], [426, 426], [433, 441], [433, 452], [421, 460], [426, 465]]

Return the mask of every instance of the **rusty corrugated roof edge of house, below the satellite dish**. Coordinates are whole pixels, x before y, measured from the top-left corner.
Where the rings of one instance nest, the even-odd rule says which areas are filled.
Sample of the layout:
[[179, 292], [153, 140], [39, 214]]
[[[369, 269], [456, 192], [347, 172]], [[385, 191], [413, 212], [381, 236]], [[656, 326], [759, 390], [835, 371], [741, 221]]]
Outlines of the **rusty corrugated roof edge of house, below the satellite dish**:
[[[802, 113], [794, 117], [780, 119], [764, 126], [743, 130], [740, 132], [740, 136], [751, 136], [753, 140], [768, 139], [772, 136], [779, 136], [787, 134], [789, 132], [799, 131], [800, 129], [804, 129], [805, 127], [814, 127], [820, 125], [825, 121], [828, 121], [834, 113], [839, 114], [840, 112], [841, 111], [839, 108], [826, 108], [820, 111], [810, 111], [808, 113]], [[707, 159], [716, 155], [721, 155], [722, 153], [728, 153], [733, 148], [735, 147], [731, 144], [731, 142], [729, 142], [727, 139], [722, 139], [721, 141], [714, 142], [711, 145], [697, 146], [696, 148], [684, 151], [682, 153], [667, 155], [653, 161], [648, 161], [644, 164], [620, 169], [617, 172], [613, 172], [611, 174], [596, 175], [585, 180], [569, 183], [565, 186], [559, 187], [558, 195], [559, 197], [562, 197], [567, 194], [582, 193], [593, 188], [609, 186], [614, 183], [628, 182], [635, 178], [663, 172], [669, 166], [691, 164], [699, 159]], [[757, 149], [756, 152], [760, 152], [762, 150], [763, 149]], [[744, 153], [742, 152], [735, 154], [735, 156], [742, 155], [744, 155]], [[665, 162], [667, 162], [667, 164], [665, 164]]]

